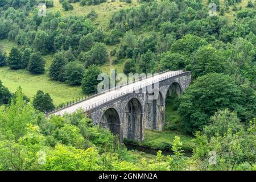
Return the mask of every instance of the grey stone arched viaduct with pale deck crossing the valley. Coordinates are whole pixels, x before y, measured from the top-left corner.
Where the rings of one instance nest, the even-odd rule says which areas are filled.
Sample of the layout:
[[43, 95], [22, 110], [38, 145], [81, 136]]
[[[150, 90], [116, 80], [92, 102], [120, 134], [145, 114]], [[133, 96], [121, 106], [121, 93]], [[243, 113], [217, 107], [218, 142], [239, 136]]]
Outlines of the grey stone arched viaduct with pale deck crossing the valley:
[[[81, 107], [96, 125], [118, 134], [120, 140], [142, 141], [144, 129], [163, 129], [168, 94], [174, 91], [180, 94], [190, 82], [191, 72], [168, 71], [98, 94], [48, 115], [72, 113]], [[155, 83], [158, 83], [158, 88], [154, 88]], [[148, 86], [152, 87], [151, 93]], [[154, 91], [158, 92], [158, 97], [152, 99], [150, 96], [155, 94]]]

